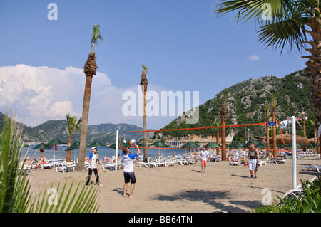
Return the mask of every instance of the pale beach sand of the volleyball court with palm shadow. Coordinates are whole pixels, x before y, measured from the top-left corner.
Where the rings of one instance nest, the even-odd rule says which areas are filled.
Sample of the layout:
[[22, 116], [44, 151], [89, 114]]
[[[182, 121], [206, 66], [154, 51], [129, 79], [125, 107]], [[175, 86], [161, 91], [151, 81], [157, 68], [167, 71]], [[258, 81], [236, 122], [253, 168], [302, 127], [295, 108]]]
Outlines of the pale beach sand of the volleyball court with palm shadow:
[[[261, 159], [263, 160], [263, 159]], [[200, 163], [175, 164], [171, 167], [146, 168], [134, 162], [136, 187], [134, 198], [123, 198], [123, 170], [101, 168], [99, 176], [103, 186], [98, 187], [98, 212], [121, 213], [243, 213], [260, 207], [270, 189], [272, 201], [292, 189], [292, 159], [285, 164], [267, 163], [258, 169], [258, 179], [251, 179], [248, 167], [230, 166], [228, 162], [208, 162], [205, 174]], [[297, 159], [297, 184], [317, 176], [316, 171], [303, 171], [303, 166], [320, 165], [320, 159]], [[56, 172], [54, 169], [32, 169], [29, 174], [31, 191], [44, 190], [46, 184], [54, 187], [68, 178], [86, 181], [87, 171]], [[92, 176], [93, 184], [96, 177]], [[129, 194], [130, 185], [128, 185]], [[265, 196], [265, 197], [264, 197]]]

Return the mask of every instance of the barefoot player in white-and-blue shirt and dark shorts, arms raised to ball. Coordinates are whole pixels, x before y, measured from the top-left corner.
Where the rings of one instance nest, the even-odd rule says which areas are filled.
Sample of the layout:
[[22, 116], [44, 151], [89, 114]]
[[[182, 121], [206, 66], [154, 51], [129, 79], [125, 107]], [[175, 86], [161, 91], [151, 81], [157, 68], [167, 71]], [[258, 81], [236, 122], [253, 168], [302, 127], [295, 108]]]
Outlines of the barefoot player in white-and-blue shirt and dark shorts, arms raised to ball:
[[141, 154], [137, 144], [133, 144], [133, 147], [136, 147], [136, 154], [129, 154], [129, 147], [123, 148], [123, 177], [125, 179], [125, 184], [123, 185], [123, 197], [126, 197], [127, 185], [131, 182], [131, 191], [129, 192], [129, 198], [133, 198], [133, 190], [135, 189], [136, 178], [135, 172], [133, 170], [133, 159], [138, 157]]

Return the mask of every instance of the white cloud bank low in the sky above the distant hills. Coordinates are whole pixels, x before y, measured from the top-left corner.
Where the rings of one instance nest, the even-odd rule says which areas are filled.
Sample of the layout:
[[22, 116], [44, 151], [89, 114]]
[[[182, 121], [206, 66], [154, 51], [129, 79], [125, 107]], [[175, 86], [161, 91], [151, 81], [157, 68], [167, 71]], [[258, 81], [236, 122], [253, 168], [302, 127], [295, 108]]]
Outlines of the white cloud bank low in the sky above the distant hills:
[[[66, 113], [81, 117], [85, 80], [81, 68], [67, 67], [61, 70], [22, 64], [0, 67], [0, 112], [8, 110], [10, 113], [13, 110], [17, 120], [29, 126], [47, 120], [66, 119]], [[128, 90], [137, 94], [137, 112], [142, 108], [138, 100], [139, 89], [138, 85], [116, 88], [106, 73], [97, 72], [91, 86], [88, 124], [111, 122], [142, 127], [141, 115], [126, 117], [122, 112], [126, 102], [122, 96]], [[149, 84], [148, 90], [161, 94], [164, 89]], [[148, 128], [163, 127], [175, 117], [148, 117]]]

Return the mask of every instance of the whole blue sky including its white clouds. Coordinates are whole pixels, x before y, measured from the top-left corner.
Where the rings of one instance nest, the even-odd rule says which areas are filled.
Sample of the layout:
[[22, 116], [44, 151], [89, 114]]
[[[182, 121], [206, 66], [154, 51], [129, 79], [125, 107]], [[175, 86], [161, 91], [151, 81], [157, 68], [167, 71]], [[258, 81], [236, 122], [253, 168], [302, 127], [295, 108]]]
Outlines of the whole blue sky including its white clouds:
[[[54, 4], [51, 4], [54, 3]], [[34, 127], [81, 117], [93, 25], [89, 125], [142, 127], [142, 65], [148, 68], [149, 129], [160, 129], [224, 88], [305, 68], [304, 53], [266, 48], [253, 21], [217, 16], [214, 0], [1, 0], [0, 112]], [[162, 94], [183, 95], [170, 100]], [[190, 94], [190, 95], [188, 95]], [[168, 107], [167, 109], [164, 107]], [[163, 111], [162, 110], [167, 110]], [[172, 111], [170, 111], [172, 110]]]

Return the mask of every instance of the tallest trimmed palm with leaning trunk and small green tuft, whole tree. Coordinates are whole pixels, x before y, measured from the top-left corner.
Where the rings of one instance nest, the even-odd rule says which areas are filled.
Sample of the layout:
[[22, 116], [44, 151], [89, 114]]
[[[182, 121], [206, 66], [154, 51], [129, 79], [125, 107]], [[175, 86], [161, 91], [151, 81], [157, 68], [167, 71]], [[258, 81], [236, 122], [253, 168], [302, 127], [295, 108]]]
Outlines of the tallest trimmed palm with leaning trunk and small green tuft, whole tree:
[[93, 37], [91, 38], [91, 53], [88, 54], [88, 58], [83, 72], [86, 75], [85, 93], [83, 95], [83, 115], [81, 123], [81, 139], [79, 144], [78, 154], [78, 167], [77, 171], [83, 171], [85, 165], [86, 156], [86, 143], [87, 143], [87, 132], [88, 132], [88, 116], [89, 116], [89, 103], [91, 101], [91, 83], [93, 81], [93, 75], [96, 75], [97, 64], [96, 64], [96, 53], [94, 52], [95, 44], [98, 40], [103, 40], [100, 35], [99, 25], [93, 26]]

